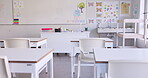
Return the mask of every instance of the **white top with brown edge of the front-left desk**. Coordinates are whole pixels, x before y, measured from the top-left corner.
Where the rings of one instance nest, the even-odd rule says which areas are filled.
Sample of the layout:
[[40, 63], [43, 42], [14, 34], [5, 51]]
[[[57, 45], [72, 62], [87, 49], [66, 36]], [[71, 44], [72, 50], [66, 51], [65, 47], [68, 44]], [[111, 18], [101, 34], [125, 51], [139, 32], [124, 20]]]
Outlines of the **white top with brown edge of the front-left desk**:
[[12, 63], [37, 63], [52, 54], [53, 49], [0, 48], [0, 55], [7, 56]]

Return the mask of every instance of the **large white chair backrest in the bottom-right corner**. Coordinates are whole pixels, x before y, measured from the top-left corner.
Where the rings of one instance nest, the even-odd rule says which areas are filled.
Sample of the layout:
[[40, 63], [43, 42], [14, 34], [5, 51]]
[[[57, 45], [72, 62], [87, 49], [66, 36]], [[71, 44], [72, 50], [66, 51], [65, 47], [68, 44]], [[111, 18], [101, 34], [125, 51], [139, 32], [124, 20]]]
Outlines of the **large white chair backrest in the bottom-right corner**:
[[109, 61], [108, 78], [148, 78], [148, 61]]

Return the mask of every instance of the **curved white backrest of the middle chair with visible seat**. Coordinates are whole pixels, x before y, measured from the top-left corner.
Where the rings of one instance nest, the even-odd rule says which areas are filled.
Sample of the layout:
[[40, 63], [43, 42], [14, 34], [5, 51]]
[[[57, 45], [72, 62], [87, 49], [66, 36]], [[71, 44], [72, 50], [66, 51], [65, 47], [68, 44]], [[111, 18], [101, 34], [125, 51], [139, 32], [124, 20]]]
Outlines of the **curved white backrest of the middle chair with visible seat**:
[[79, 47], [83, 53], [93, 52], [94, 48], [105, 48], [105, 40], [99, 38], [80, 39]]

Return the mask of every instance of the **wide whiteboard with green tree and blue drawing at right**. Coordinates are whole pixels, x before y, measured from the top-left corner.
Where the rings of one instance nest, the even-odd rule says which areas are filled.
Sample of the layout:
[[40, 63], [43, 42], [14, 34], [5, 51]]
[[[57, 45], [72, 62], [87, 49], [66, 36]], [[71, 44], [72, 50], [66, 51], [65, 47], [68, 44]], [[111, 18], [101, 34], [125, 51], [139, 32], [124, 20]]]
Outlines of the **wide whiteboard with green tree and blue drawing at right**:
[[[14, 0], [14, 18], [19, 24], [85, 24], [86, 6], [81, 13], [78, 4], [84, 0]], [[18, 7], [19, 6], [19, 7]]]

